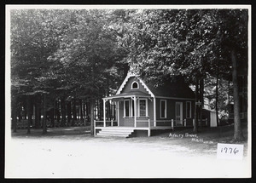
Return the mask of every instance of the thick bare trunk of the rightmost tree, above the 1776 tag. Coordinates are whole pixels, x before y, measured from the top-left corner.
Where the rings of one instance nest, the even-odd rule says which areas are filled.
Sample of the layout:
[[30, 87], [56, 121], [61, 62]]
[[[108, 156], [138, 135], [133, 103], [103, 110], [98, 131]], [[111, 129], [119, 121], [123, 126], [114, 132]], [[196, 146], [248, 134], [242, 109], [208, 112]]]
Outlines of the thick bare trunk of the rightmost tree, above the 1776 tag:
[[237, 60], [235, 51], [231, 51], [231, 60], [232, 60], [232, 80], [233, 80], [233, 89], [234, 89], [234, 139], [235, 140], [244, 140], [242, 130], [241, 130], [241, 119], [240, 119], [240, 106], [239, 106], [239, 93], [238, 93], [238, 82], [237, 82]]

